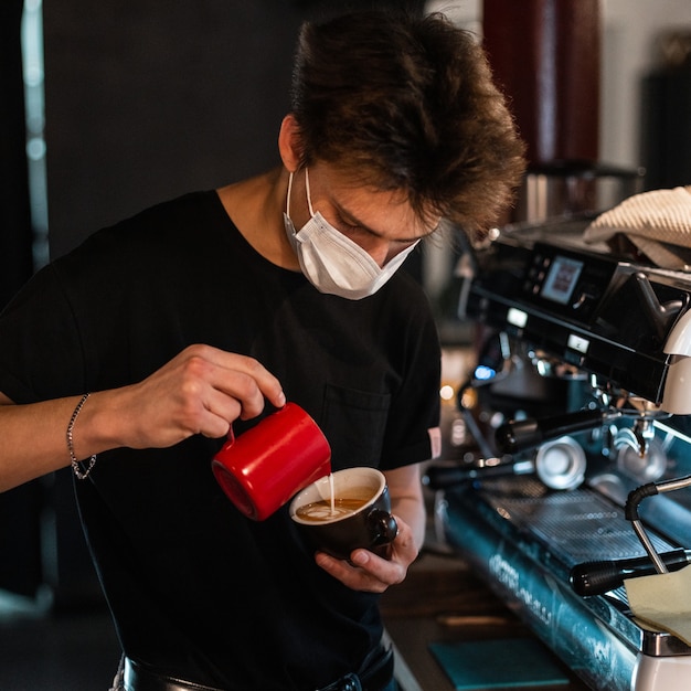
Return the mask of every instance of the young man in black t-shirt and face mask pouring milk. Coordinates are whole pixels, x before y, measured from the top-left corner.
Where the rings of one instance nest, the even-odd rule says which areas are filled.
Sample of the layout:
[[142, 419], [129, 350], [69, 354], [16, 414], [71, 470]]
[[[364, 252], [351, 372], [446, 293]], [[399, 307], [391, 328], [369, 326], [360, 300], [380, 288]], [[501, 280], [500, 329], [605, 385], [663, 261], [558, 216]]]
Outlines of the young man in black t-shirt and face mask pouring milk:
[[[394, 688], [378, 597], [423, 543], [439, 386], [429, 307], [396, 269], [442, 219], [486, 227], [522, 145], [470, 35], [361, 13], [304, 28], [278, 149], [276, 170], [94, 234], [0, 319], [1, 488], [73, 466], [129, 691]], [[286, 508], [253, 522], [223, 495], [230, 425], [286, 400], [334, 470], [385, 472], [390, 561], [315, 555]]]

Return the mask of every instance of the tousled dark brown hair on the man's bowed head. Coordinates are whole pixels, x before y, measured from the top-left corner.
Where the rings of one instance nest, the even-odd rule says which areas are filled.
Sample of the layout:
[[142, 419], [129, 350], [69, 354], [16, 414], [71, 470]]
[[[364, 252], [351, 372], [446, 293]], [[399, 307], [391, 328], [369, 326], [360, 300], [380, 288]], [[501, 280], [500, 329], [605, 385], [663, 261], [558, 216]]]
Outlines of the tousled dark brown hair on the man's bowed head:
[[[402, 190], [467, 231], [495, 223], [523, 143], [476, 38], [442, 14], [369, 11], [302, 26], [293, 78], [302, 162]], [[426, 212], [426, 213], [425, 213]]]

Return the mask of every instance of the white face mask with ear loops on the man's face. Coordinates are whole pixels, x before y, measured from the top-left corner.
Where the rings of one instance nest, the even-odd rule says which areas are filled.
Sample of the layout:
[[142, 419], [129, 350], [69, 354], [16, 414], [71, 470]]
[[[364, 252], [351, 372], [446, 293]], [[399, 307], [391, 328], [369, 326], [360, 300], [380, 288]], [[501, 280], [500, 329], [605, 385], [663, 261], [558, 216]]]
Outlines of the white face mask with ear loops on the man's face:
[[290, 220], [293, 173], [288, 180], [288, 195], [284, 222], [286, 234], [300, 262], [300, 268], [320, 293], [360, 300], [376, 293], [403, 264], [419, 241], [406, 247], [380, 268], [376, 262], [358, 244], [334, 228], [319, 212], [312, 210], [309, 176], [305, 170], [307, 205], [310, 219], [299, 230]]

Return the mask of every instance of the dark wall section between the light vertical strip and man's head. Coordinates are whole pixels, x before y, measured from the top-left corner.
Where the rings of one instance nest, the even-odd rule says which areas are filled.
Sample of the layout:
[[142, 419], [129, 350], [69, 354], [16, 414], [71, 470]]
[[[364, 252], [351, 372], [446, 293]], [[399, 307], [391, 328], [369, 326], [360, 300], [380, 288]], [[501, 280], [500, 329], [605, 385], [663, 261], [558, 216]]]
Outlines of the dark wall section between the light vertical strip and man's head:
[[51, 256], [276, 161], [301, 18], [280, 0], [44, 3]]

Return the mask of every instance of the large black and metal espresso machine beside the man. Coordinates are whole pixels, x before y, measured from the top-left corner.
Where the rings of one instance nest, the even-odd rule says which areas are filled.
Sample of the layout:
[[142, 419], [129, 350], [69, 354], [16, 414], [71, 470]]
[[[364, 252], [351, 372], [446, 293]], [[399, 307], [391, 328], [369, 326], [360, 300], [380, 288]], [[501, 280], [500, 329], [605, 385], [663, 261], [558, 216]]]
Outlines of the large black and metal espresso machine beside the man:
[[586, 244], [591, 221], [461, 258], [477, 362], [425, 481], [449, 549], [591, 688], [688, 689], [691, 647], [637, 620], [624, 581], [691, 560], [691, 274]]

